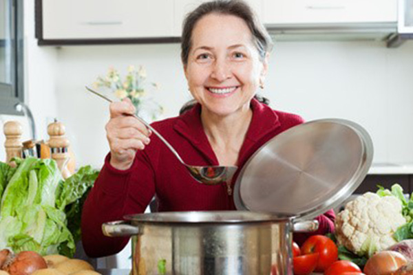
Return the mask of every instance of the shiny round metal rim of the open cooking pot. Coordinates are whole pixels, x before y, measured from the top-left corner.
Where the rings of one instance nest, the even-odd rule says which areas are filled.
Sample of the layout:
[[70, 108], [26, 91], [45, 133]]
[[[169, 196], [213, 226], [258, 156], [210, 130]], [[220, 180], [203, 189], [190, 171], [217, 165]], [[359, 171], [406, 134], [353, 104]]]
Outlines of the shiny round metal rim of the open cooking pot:
[[277, 214], [251, 211], [180, 211], [127, 214], [124, 219], [139, 223], [158, 225], [180, 224], [240, 224], [292, 222], [293, 217], [280, 217]]

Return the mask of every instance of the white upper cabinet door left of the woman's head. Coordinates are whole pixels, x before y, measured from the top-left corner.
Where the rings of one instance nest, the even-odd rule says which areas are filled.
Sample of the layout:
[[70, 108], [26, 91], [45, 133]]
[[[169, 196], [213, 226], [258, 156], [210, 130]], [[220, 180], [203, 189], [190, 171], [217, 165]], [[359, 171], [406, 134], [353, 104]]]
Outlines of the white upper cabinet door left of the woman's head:
[[172, 34], [171, 0], [43, 0], [43, 39], [129, 39]]

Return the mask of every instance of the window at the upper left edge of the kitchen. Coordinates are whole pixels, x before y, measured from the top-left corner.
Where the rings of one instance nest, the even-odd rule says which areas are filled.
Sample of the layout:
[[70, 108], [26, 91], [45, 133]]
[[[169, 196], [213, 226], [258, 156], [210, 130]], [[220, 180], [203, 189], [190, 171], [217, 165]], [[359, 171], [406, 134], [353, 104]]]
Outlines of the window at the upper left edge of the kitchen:
[[23, 0], [0, 0], [0, 113], [21, 115], [23, 102]]

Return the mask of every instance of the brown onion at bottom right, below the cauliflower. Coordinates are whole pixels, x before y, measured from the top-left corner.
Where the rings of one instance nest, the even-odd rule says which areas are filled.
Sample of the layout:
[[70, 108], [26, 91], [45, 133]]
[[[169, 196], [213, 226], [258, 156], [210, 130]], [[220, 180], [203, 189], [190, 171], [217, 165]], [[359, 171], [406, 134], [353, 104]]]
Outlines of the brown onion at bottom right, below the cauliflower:
[[368, 259], [363, 272], [366, 275], [391, 275], [405, 265], [405, 256], [395, 251], [381, 251]]

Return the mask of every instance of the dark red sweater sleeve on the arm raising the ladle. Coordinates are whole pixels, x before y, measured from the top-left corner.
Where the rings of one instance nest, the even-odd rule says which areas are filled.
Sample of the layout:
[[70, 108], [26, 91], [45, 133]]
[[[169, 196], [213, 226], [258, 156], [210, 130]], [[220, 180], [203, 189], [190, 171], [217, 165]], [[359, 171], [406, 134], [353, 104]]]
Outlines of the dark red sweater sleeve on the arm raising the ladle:
[[109, 164], [110, 154], [83, 205], [81, 230], [85, 253], [90, 257], [107, 256], [122, 250], [127, 237], [108, 237], [102, 223], [123, 220], [125, 214], [142, 213], [155, 194], [153, 171], [138, 152], [128, 170]]

